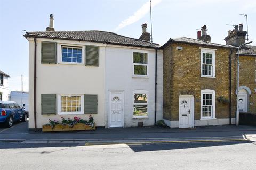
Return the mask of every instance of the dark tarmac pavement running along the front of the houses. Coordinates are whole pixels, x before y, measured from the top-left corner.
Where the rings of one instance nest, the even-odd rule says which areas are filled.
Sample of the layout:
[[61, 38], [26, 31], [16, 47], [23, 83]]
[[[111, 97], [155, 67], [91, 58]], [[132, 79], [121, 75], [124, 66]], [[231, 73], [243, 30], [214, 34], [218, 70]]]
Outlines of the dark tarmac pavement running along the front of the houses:
[[256, 141], [256, 127], [239, 125], [202, 126], [196, 128], [97, 128], [95, 131], [42, 132], [29, 131], [28, 121], [0, 128], [0, 141], [22, 143], [171, 143]]

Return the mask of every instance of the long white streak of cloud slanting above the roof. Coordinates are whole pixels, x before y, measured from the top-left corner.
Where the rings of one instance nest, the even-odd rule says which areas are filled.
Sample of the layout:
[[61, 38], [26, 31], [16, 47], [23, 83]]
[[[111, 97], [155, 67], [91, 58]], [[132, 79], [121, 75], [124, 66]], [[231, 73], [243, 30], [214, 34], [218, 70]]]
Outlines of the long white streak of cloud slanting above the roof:
[[[151, 8], [156, 6], [157, 4], [161, 3], [162, 0], [152, 0], [151, 1]], [[132, 16], [129, 16], [129, 18], [123, 20], [116, 28], [114, 31], [118, 31], [127, 25], [131, 25], [134, 22], [139, 21], [143, 16], [145, 16], [148, 12], [150, 11], [150, 2], [146, 2], [137, 10]]]

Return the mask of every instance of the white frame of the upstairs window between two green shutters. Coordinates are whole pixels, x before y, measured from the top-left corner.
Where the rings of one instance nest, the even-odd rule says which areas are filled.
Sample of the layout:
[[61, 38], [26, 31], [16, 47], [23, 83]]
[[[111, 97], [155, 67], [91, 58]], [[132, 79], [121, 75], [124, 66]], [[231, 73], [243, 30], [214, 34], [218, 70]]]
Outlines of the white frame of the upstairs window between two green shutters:
[[[59, 64], [85, 65], [85, 45], [58, 43], [57, 46], [58, 46], [57, 56], [58, 56], [58, 63]], [[82, 48], [82, 63], [62, 62], [62, 47]]]

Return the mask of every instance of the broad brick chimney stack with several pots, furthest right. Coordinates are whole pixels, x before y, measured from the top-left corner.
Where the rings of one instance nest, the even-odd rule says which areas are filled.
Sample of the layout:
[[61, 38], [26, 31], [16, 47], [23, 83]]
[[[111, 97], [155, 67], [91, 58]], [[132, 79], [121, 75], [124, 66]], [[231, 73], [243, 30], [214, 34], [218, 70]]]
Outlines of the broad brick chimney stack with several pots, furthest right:
[[247, 32], [243, 31], [243, 24], [235, 25], [235, 29], [228, 31], [228, 36], [224, 38], [226, 45], [238, 47], [245, 43]]

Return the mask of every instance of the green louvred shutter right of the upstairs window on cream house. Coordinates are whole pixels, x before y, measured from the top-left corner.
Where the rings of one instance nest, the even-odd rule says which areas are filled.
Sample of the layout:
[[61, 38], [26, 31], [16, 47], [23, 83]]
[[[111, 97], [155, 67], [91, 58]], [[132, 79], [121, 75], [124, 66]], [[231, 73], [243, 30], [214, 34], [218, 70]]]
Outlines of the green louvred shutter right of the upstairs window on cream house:
[[86, 46], [85, 65], [99, 66], [99, 47]]

